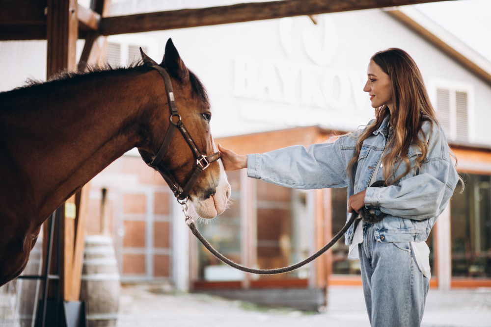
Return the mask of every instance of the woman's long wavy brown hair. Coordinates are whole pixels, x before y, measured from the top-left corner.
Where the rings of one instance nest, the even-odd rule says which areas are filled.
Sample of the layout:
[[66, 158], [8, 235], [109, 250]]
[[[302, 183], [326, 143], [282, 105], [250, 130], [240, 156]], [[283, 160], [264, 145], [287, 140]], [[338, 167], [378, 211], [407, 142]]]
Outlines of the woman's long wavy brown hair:
[[[389, 75], [392, 82], [394, 108], [392, 108], [390, 116], [390, 126], [393, 127], [393, 137], [386, 145], [386, 149], [390, 150], [386, 152], [382, 159], [383, 178], [385, 183], [390, 185], [408, 174], [412, 168], [421, 167], [429, 151], [429, 142], [426, 142], [421, 126], [425, 121], [429, 121], [432, 126], [433, 124], [438, 124], [438, 121], [435, 109], [426, 92], [421, 72], [406, 51], [390, 48], [375, 53], [370, 60], [379, 65], [382, 71]], [[383, 119], [389, 114], [389, 109], [385, 105], [375, 109], [375, 122], [367, 126], [358, 137], [356, 154], [348, 165], [349, 173], [353, 171], [353, 167], [358, 160], [363, 141], [382, 125]], [[431, 137], [430, 132], [428, 140]], [[410, 167], [409, 164], [409, 146], [414, 147], [414, 150], [418, 153], [414, 167]], [[399, 176], [394, 176], [403, 161], [406, 164], [406, 171]], [[392, 178], [392, 176], [394, 177]]]

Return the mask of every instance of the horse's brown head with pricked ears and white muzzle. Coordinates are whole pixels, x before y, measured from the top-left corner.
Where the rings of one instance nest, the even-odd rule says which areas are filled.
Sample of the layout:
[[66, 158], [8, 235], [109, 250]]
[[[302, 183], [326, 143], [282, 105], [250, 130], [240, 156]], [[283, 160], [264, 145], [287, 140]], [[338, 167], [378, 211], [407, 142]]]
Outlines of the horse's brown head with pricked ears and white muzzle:
[[[202, 158], [196, 155], [196, 152], [202, 153], [204, 156], [218, 152], [210, 131], [212, 112], [206, 90], [196, 75], [184, 65], [171, 39], [167, 41], [164, 59], [160, 64], [148, 57], [141, 49], [140, 51], [144, 65], [159, 66], [167, 72], [170, 76], [173, 92], [172, 94], [165, 92], [162, 78], [164, 72], [161, 73], [163, 76], [157, 72], [153, 73], [157, 78], [155, 83], [162, 85], [162, 94], [160, 95], [162, 100], [159, 101], [152, 117], [149, 117], [150, 133], [147, 135], [148, 140], [138, 147], [138, 151], [147, 164], [155, 162], [154, 159], [158, 156], [166, 140], [169, 126], [172, 127], [171, 124], [176, 125], [177, 122], [181, 121], [186, 132], [180, 130], [181, 133], [174, 133], [162, 160], [159, 161], [159, 158], [157, 160], [159, 162], [155, 162], [151, 166], [164, 176], [171, 188], [172, 184], [176, 184], [176, 196], [192, 180], [196, 167], [198, 165], [206, 166], [206, 169], [197, 177], [187, 198], [191, 200], [194, 211], [200, 217], [214, 218], [225, 210], [231, 189], [220, 159], [207, 165], [206, 160], [199, 162]], [[158, 67], [156, 70], [159, 70]], [[169, 101], [174, 100], [178, 115], [171, 117]], [[185, 133], [191, 136], [191, 143], [189, 142], [190, 137], [187, 137]], [[185, 137], [188, 138], [188, 141]], [[193, 150], [193, 144], [196, 145], [197, 149]]]

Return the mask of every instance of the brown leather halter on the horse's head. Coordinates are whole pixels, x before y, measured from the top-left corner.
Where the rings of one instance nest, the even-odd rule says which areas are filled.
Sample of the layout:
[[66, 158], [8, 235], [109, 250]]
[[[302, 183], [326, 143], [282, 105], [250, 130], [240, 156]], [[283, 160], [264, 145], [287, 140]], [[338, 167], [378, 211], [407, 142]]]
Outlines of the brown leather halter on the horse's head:
[[[165, 71], [164, 68], [160, 66], [152, 66], [152, 68], [157, 70], [160, 73], [160, 75], [164, 77], [165, 92], [167, 93], [167, 99], [169, 102], [169, 109], [170, 109], [170, 118], [169, 118], [170, 125], [169, 128], [167, 129], [164, 142], [162, 143], [159, 152], [157, 152], [152, 162], [147, 163], [147, 165], [158, 170], [160, 175], [164, 177], [164, 180], [169, 185], [170, 189], [176, 196], [177, 200], [183, 201], [186, 198], [188, 198], [192, 187], [196, 183], [196, 180], [198, 180], [199, 174], [201, 174], [202, 171], [208, 168], [208, 166], [210, 166], [212, 162], [217, 161], [221, 157], [221, 154], [220, 152], [215, 152], [208, 156], [201, 154], [201, 152], [198, 150], [198, 147], [192, 140], [192, 137], [189, 134], [188, 130], [184, 127], [184, 124], [181, 120], [181, 116], [177, 113], [177, 104], [174, 99], [174, 91], [172, 89], [172, 82], [170, 80], [169, 74]], [[184, 188], [182, 188], [179, 185], [179, 183], [177, 183], [177, 181], [170, 174], [170, 172], [168, 172], [164, 168], [158, 167], [162, 159], [164, 158], [165, 152], [167, 152], [167, 149], [170, 146], [170, 142], [172, 141], [172, 137], [174, 136], [174, 132], [176, 131], [176, 128], [179, 128], [181, 134], [183, 134], [184, 139], [188, 143], [194, 155], [194, 158], [196, 159], [196, 168], [194, 169], [191, 178], [188, 180]]]

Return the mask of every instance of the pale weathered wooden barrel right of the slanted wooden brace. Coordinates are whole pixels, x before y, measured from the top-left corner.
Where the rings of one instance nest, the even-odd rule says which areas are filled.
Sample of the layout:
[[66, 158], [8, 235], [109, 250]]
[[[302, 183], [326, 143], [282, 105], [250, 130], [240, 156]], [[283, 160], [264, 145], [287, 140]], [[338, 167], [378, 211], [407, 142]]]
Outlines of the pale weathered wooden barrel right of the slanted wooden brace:
[[103, 235], [85, 237], [80, 299], [87, 308], [89, 327], [116, 326], [120, 289], [112, 239]]

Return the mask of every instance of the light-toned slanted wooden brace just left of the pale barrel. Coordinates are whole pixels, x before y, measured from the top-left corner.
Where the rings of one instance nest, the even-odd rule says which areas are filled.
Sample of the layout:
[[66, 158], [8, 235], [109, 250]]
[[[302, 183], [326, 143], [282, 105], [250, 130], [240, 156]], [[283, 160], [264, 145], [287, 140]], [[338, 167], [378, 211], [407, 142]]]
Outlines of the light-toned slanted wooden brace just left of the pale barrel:
[[85, 224], [89, 211], [90, 182], [83, 186], [79, 192], [79, 205], [77, 210], [75, 246], [72, 260], [71, 289], [66, 301], [79, 301], [80, 284], [83, 267], [83, 251], [85, 249]]

